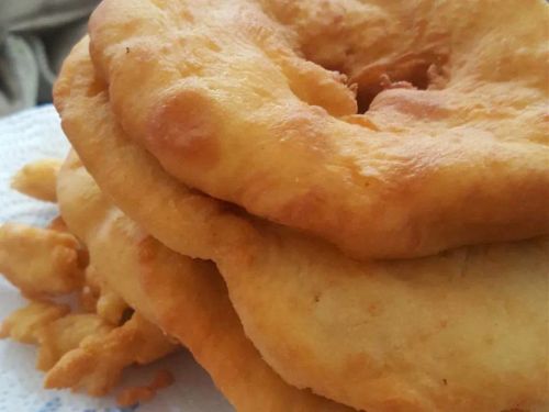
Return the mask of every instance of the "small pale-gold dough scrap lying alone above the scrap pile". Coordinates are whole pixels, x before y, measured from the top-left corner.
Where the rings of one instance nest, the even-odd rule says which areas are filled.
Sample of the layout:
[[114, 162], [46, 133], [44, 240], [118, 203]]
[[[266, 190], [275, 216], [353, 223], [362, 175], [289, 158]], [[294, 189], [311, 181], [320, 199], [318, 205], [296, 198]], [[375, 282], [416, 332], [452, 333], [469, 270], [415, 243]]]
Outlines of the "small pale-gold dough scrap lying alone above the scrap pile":
[[55, 202], [57, 172], [61, 166], [58, 159], [42, 159], [25, 165], [11, 181], [11, 187], [30, 197]]

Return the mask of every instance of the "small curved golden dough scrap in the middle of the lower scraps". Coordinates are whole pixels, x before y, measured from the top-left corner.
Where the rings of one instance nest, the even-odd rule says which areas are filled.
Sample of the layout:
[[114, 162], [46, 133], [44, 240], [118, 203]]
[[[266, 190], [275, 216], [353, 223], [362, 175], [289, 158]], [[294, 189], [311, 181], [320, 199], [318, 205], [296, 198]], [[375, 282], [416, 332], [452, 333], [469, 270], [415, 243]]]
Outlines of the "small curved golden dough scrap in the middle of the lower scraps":
[[78, 347], [87, 336], [102, 336], [113, 326], [97, 314], [68, 314], [42, 325], [36, 331], [40, 345], [36, 368], [49, 370], [68, 352]]

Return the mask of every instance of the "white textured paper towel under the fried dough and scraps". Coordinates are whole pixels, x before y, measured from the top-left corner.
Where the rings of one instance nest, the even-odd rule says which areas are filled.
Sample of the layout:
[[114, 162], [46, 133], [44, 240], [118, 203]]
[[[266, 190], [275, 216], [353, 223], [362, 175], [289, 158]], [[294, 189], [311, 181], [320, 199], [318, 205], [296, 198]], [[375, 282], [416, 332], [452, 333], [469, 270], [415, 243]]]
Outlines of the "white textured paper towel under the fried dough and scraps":
[[[10, 190], [11, 176], [29, 162], [63, 158], [68, 143], [51, 105], [0, 119], [0, 223], [11, 221], [44, 225], [56, 207]], [[24, 304], [24, 299], [0, 277], [0, 320]], [[228, 412], [233, 409], [215, 389], [208, 374], [184, 350], [153, 366], [125, 371], [122, 386], [147, 383], [157, 369], [168, 369], [176, 382], [149, 403], [116, 408], [112, 397], [90, 398], [68, 390], [42, 389], [43, 374], [34, 368], [36, 349], [0, 341], [0, 412]]]

